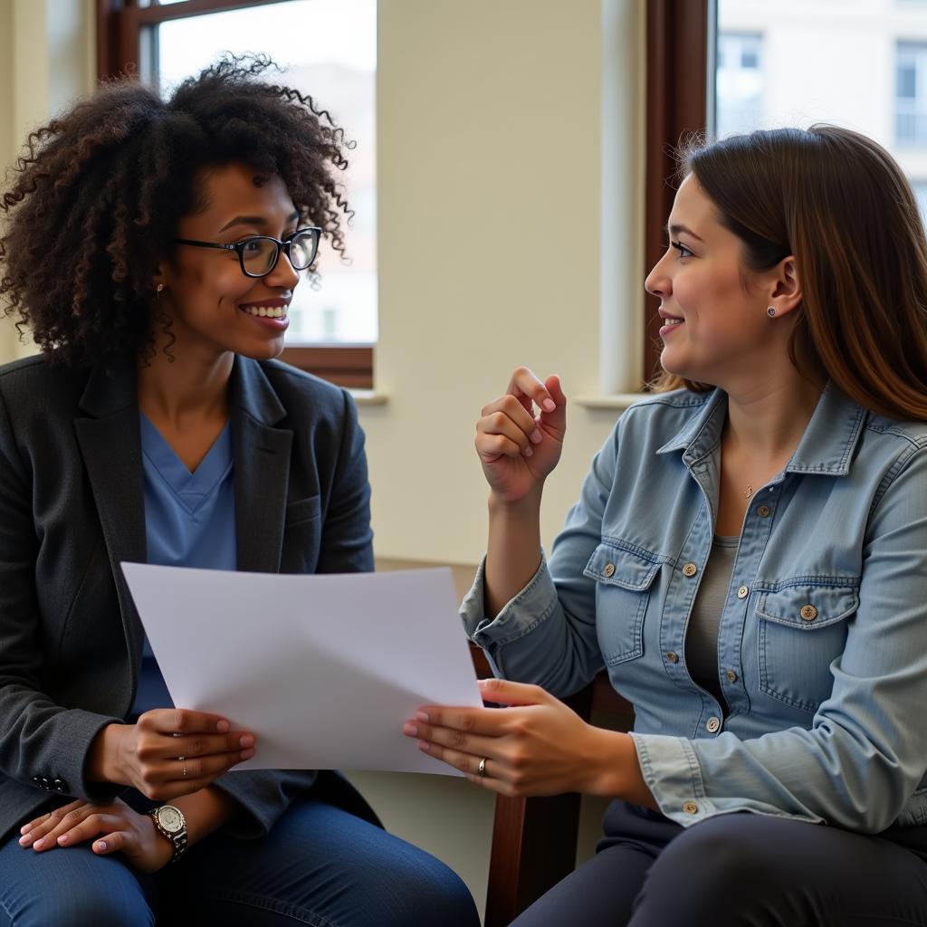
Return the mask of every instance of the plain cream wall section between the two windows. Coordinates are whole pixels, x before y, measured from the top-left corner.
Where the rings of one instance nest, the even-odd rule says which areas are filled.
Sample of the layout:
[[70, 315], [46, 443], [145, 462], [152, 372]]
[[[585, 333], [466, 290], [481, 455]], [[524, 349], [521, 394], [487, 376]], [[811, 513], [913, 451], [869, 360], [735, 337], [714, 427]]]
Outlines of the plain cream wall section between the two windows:
[[[640, 5], [621, 6], [640, 98]], [[598, 0], [381, 3], [375, 381], [389, 399], [362, 410], [380, 555], [478, 560], [474, 423], [516, 364], [560, 374], [567, 397], [599, 389], [600, 43]], [[625, 133], [642, 144], [640, 112]], [[625, 221], [616, 259], [642, 226]], [[641, 312], [642, 275], [620, 309]], [[614, 418], [570, 410], [545, 539]]]

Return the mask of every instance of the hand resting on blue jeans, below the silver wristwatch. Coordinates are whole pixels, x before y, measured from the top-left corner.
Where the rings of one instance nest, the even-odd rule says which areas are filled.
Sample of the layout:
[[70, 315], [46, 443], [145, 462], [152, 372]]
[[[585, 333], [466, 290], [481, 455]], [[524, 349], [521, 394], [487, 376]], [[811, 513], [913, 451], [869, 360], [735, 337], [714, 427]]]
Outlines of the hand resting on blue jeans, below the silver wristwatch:
[[118, 798], [108, 805], [71, 802], [30, 821], [20, 833], [19, 844], [39, 853], [99, 837], [92, 847], [97, 856], [121, 853], [139, 872], [157, 872], [173, 856], [171, 842], [161, 836], [154, 821]]

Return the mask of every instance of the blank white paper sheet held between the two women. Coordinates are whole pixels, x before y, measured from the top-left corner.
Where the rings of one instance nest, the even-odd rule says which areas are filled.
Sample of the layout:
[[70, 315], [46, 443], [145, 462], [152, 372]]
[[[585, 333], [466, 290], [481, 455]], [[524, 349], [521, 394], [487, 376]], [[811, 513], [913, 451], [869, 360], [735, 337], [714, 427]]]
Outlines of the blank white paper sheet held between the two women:
[[174, 704], [255, 734], [235, 769], [455, 773], [401, 730], [420, 705], [482, 705], [449, 569], [122, 569]]

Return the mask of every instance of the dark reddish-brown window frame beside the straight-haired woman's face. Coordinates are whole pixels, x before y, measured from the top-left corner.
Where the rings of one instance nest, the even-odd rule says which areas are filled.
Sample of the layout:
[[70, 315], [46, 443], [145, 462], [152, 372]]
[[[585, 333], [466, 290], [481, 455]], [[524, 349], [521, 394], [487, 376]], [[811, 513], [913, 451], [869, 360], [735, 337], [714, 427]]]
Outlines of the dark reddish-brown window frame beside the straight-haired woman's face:
[[[647, 0], [647, 132], [644, 187], [644, 273], [667, 247], [667, 217], [676, 195], [673, 148], [708, 121], [708, 63], [714, 0]], [[660, 300], [647, 294], [644, 373], [659, 373]]]

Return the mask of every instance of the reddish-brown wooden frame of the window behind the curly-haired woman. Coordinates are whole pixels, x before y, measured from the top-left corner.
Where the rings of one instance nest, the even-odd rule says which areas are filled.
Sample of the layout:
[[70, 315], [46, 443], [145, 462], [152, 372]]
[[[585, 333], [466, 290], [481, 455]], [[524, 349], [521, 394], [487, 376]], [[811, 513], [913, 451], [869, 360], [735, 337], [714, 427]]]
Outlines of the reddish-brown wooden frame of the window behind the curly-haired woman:
[[[139, 0], [96, 0], [96, 77], [99, 81], [135, 74], [146, 26], [209, 13], [266, 6], [286, 0], [185, 0], [182, 4], [140, 6]], [[356, 389], [374, 387], [371, 345], [297, 345], [284, 349], [281, 359], [300, 370]]]

